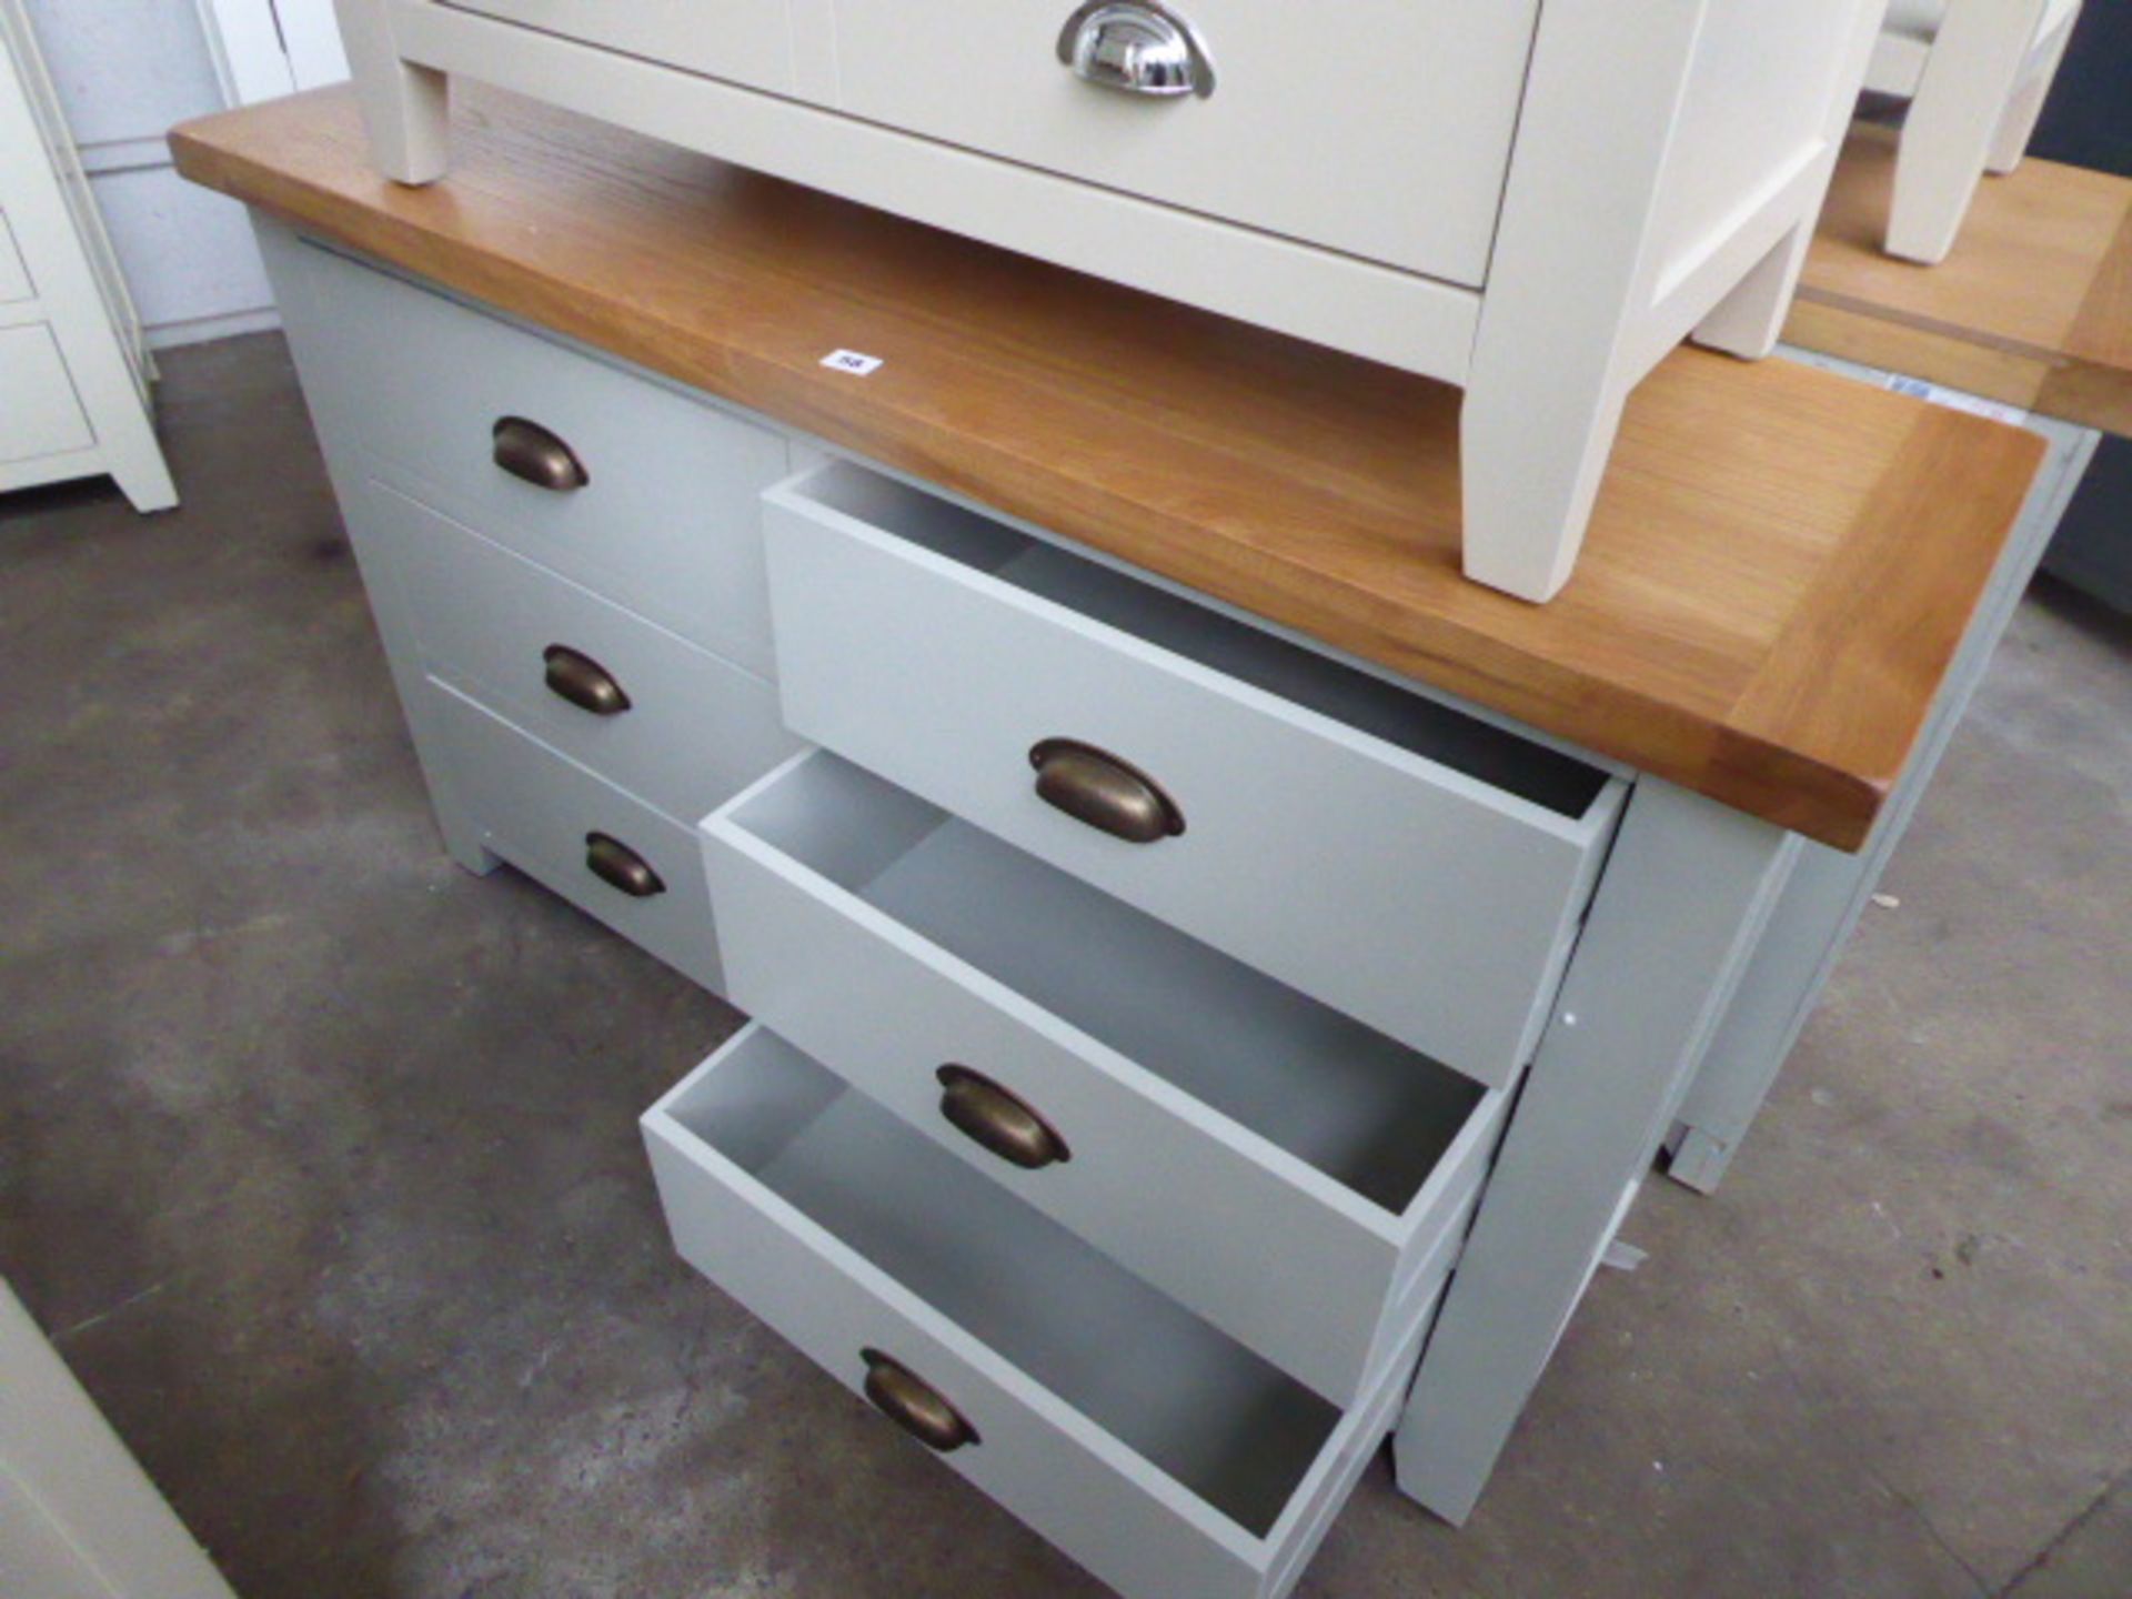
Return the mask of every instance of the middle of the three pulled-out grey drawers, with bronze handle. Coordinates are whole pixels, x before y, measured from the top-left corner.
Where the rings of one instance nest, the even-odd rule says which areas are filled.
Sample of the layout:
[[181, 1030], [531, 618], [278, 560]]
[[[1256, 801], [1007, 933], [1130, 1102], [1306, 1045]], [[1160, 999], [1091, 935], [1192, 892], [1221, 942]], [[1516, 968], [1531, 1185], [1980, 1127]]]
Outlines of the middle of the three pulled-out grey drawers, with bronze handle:
[[1367, 1392], [1503, 1092], [827, 753], [704, 836], [736, 1004], [1318, 1392]]

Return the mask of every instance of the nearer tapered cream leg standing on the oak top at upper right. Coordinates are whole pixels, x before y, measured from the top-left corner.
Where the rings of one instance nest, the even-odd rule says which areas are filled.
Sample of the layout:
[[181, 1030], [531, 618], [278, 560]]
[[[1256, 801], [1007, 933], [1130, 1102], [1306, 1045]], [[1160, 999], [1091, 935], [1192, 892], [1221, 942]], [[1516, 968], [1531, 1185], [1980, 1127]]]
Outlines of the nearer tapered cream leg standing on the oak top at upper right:
[[1887, 254], [1932, 266], [1955, 247], [2042, 9], [2045, 0], [1949, 4], [1902, 126]]

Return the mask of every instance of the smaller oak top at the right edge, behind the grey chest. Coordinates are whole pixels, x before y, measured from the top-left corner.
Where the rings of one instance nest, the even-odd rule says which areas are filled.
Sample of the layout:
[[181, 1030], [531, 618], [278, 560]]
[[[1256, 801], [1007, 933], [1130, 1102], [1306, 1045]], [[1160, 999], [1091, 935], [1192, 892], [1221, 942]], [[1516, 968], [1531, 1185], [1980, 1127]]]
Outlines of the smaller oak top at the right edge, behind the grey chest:
[[1938, 266], [1880, 252], [1895, 139], [1844, 147], [1784, 339], [2132, 437], [2132, 179], [1987, 177]]

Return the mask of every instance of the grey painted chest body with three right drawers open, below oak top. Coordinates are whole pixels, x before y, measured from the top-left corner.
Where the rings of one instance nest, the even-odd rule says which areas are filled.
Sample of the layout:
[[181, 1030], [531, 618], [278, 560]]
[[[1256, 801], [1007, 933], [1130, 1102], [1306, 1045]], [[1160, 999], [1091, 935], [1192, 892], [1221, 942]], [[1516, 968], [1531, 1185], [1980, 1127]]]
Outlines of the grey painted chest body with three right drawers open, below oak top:
[[1463, 1518], [1900, 823], [1838, 857], [262, 243], [448, 849], [753, 1015], [644, 1115], [680, 1254], [1126, 1595], [1286, 1595], [1394, 1428]]

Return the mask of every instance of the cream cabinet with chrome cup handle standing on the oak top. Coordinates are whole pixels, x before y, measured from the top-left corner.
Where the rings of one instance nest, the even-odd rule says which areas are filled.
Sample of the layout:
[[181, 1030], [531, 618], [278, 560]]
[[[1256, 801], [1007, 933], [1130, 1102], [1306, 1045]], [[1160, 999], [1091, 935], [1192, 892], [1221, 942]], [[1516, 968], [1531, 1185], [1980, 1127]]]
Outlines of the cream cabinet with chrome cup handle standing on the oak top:
[[337, 0], [379, 171], [467, 75], [1465, 390], [1550, 599], [1629, 392], [1767, 354], [1883, 0]]

